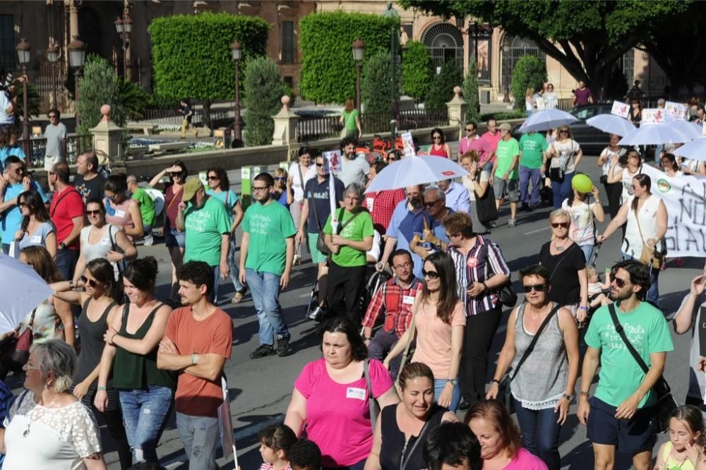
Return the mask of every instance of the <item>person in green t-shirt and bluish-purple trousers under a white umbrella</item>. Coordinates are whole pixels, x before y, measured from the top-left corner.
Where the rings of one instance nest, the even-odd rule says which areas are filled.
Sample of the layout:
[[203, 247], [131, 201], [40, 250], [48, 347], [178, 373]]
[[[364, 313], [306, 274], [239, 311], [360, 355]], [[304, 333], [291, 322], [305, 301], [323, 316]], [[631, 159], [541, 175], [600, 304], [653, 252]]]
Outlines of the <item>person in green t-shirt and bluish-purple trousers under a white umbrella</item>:
[[[539, 205], [539, 179], [542, 177], [542, 163], [546, 152], [544, 135], [535, 131], [520, 138], [520, 202], [521, 210], [532, 212]], [[532, 194], [530, 195], [530, 183]]]

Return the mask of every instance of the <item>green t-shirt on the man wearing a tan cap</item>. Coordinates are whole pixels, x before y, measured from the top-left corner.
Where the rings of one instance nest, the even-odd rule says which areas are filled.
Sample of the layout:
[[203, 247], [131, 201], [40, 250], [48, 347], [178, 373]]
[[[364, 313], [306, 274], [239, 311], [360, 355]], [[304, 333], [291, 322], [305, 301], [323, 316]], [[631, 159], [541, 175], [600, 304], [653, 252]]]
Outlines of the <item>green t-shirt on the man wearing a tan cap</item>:
[[184, 227], [184, 263], [193, 260], [210, 266], [219, 265], [221, 236], [230, 234], [230, 219], [225, 205], [216, 198], [208, 198], [201, 207], [189, 203], [184, 211]]

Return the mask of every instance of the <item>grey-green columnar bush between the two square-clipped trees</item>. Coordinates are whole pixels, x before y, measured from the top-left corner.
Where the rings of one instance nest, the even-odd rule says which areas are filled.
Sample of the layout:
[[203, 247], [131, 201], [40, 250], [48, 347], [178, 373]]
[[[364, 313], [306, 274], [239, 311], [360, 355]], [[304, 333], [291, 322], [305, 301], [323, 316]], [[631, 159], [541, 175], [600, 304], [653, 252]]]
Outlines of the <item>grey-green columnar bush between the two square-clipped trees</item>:
[[282, 76], [269, 57], [249, 59], [244, 80], [244, 139], [247, 145], [272, 143], [275, 121], [272, 116], [282, 107]]

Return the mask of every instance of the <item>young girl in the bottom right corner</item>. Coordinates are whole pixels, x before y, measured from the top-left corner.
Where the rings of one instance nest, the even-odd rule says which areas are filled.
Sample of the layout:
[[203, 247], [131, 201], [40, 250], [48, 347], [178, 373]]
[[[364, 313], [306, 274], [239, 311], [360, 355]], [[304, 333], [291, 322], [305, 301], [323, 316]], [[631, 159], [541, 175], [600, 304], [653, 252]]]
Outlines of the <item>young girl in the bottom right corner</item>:
[[704, 419], [696, 406], [683, 405], [669, 415], [669, 441], [657, 452], [658, 470], [695, 470], [706, 444]]

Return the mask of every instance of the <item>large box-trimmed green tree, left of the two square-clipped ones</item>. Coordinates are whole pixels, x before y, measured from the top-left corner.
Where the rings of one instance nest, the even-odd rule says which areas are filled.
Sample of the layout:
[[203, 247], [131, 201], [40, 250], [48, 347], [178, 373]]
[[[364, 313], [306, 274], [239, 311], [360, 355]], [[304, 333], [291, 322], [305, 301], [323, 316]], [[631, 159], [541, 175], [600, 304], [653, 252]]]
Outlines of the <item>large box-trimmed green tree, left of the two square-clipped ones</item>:
[[[230, 44], [241, 43], [246, 64], [246, 59], [265, 54], [271, 27], [262, 18], [230, 13], [155, 18], [148, 28], [155, 93], [169, 100], [201, 100], [204, 121], [210, 126], [211, 102], [235, 97]], [[241, 73], [246, 73], [246, 66]]]

